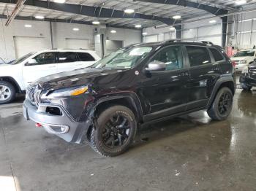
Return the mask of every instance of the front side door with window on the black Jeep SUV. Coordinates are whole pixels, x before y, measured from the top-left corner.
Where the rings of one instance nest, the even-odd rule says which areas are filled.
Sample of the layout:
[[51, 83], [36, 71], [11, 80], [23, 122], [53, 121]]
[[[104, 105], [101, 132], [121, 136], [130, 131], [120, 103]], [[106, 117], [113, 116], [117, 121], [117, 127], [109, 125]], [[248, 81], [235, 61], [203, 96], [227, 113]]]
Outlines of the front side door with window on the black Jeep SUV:
[[148, 105], [146, 121], [185, 111], [189, 73], [182, 49], [182, 46], [164, 47], [148, 62], [159, 61], [166, 67], [165, 71], [146, 71], [143, 79], [141, 93]]

